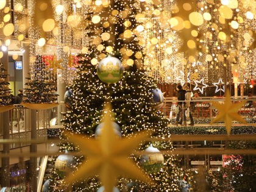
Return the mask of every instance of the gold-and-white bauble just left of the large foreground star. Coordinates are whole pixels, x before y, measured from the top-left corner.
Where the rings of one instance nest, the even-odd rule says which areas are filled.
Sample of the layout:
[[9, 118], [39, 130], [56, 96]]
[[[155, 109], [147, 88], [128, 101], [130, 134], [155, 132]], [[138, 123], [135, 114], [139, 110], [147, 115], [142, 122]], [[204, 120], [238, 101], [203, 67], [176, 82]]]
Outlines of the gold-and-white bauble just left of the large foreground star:
[[69, 171], [74, 164], [74, 157], [72, 155], [63, 154], [57, 157], [55, 162], [55, 169], [60, 177], [64, 177], [65, 173]]

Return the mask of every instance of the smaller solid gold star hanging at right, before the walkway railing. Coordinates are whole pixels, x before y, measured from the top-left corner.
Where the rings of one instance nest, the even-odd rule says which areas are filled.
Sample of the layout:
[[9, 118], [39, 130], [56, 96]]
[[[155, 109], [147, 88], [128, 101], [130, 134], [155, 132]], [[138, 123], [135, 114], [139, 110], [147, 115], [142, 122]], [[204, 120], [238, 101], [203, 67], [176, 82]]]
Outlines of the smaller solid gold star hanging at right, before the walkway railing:
[[230, 135], [232, 120], [246, 124], [246, 121], [238, 114], [238, 110], [246, 103], [246, 101], [232, 103], [229, 90], [226, 91], [226, 100], [224, 104], [215, 101], [211, 103], [213, 107], [217, 108], [219, 115], [217, 115], [210, 124], [224, 121], [227, 135]]

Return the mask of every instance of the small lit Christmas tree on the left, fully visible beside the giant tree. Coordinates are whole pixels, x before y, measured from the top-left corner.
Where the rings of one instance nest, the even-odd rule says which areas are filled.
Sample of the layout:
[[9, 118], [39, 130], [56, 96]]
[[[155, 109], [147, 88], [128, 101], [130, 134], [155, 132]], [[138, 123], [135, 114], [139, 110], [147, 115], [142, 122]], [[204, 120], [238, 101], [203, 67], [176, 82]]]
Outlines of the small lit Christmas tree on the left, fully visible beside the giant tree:
[[46, 69], [41, 55], [35, 58], [33, 69], [31, 77], [28, 78], [29, 82], [25, 84], [23, 102], [35, 104], [57, 102], [54, 77], [51, 77], [51, 72]]

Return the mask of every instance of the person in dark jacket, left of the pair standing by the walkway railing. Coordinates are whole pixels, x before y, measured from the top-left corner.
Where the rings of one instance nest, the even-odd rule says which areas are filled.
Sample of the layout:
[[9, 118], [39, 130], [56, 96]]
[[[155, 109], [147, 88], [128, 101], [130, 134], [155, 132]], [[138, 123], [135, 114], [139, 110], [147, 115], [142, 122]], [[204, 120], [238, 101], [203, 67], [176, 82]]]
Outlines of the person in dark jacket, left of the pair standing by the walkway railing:
[[[185, 116], [185, 112], [184, 112], [184, 108], [186, 106], [186, 98], [185, 98], [185, 94], [186, 91], [182, 89], [181, 85], [177, 86], [177, 98], [178, 98], [178, 105], [177, 105], [177, 114], [176, 114], [176, 122], [175, 125], [177, 126], [178, 124], [182, 124], [182, 118], [180, 119], [180, 112], [182, 112], [183, 116], [184, 116], [184, 125], [187, 126], [187, 121], [186, 121], [186, 116]], [[183, 107], [183, 111], [182, 111], [182, 107]]]

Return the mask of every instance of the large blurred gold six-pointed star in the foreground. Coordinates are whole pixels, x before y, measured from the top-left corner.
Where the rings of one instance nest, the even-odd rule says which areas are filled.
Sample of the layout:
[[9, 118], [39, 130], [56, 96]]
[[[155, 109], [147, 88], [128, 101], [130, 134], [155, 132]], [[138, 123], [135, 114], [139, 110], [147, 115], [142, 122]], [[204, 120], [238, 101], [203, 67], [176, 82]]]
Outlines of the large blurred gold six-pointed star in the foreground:
[[110, 104], [107, 104], [102, 132], [95, 140], [76, 133], [66, 133], [68, 139], [79, 146], [81, 154], [87, 157], [87, 162], [84, 162], [74, 175], [71, 174], [65, 179], [66, 183], [71, 184], [99, 175], [106, 192], [112, 192], [118, 176], [152, 183], [149, 177], [128, 158], [138, 144], [148, 138], [148, 133], [142, 132], [123, 139], [118, 137], [112, 126], [110, 112]]

